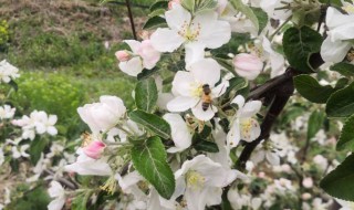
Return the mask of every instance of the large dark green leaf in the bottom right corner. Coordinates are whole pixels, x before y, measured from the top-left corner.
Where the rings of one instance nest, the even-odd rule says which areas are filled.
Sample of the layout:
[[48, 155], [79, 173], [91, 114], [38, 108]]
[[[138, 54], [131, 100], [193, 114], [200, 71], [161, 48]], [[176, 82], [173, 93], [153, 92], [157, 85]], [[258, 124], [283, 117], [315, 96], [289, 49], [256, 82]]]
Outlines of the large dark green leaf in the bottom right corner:
[[354, 155], [351, 155], [321, 180], [320, 187], [335, 198], [354, 201], [353, 180]]

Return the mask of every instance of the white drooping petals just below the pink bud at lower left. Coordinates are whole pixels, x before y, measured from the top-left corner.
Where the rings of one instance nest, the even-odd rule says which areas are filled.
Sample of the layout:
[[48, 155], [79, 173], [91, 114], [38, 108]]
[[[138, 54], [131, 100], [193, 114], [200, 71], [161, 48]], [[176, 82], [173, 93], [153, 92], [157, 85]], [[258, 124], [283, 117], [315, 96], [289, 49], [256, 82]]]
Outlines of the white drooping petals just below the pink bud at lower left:
[[76, 154], [79, 154], [76, 161], [64, 167], [66, 171], [93, 176], [112, 175], [112, 169], [104, 158], [93, 159], [87, 157], [85, 153], [83, 153], [82, 148], [79, 148]]

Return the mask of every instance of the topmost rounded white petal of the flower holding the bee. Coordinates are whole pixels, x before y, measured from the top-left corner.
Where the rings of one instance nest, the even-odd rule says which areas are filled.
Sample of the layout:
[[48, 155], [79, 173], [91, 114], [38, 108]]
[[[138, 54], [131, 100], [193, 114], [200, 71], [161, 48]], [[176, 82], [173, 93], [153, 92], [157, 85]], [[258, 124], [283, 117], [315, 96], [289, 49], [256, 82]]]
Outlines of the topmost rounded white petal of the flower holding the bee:
[[221, 67], [212, 59], [204, 59], [190, 65], [195, 80], [201, 84], [209, 84], [212, 88], [220, 80]]

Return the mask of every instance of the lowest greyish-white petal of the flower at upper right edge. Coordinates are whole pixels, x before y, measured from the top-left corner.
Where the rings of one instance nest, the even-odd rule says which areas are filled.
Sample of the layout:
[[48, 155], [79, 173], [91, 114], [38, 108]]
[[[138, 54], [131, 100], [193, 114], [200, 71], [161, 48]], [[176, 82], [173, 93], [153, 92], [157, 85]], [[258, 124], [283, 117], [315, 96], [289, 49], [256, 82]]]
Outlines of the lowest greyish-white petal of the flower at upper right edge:
[[341, 62], [345, 57], [348, 50], [352, 48], [350, 42], [336, 41], [332, 42], [327, 36], [321, 46], [321, 56], [325, 62]]

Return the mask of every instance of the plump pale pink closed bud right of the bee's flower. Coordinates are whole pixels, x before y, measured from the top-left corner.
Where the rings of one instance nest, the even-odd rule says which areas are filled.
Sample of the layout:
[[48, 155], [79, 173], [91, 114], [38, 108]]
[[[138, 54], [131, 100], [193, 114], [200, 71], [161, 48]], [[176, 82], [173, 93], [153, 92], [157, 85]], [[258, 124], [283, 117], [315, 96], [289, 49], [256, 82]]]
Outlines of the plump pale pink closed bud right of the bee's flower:
[[263, 62], [253, 54], [240, 53], [233, 57], [235, 71], [247, 80], [254, 80], [263, 69]]

